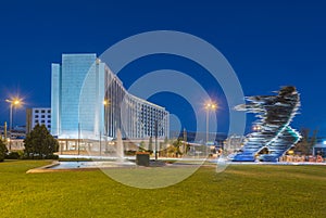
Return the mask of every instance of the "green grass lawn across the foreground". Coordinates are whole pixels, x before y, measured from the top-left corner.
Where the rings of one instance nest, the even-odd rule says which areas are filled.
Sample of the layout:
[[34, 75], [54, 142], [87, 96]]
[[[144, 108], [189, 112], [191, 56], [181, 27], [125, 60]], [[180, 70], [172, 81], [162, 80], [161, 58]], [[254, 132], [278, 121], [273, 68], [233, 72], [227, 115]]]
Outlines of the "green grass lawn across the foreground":
[[173, 187], [141, 190], [101, 170], [25, 174], [46, 164], [0, 163], [1, 218], [326, 217], [325, 166], [202, 167]]

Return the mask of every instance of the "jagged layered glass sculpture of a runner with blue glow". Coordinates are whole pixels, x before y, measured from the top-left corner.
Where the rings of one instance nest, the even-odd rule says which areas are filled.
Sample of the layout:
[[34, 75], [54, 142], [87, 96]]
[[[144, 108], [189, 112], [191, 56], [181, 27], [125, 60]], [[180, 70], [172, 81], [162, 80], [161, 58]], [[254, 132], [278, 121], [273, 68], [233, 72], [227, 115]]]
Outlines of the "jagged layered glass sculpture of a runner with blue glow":
[[[234, 155], [234, 162], [277, 162], [301, 139], [299, 132], [289, 124], [300, 106], [300, 97], [296, 87], [283, 87], [277, 95], [248, 97], [247, 104], [236, 106], [237, 111], [258, 114], [254, 125], [259, 130], [246, 137], [240, 153]], [[267, 154], [260, 154], [266, 149]]]

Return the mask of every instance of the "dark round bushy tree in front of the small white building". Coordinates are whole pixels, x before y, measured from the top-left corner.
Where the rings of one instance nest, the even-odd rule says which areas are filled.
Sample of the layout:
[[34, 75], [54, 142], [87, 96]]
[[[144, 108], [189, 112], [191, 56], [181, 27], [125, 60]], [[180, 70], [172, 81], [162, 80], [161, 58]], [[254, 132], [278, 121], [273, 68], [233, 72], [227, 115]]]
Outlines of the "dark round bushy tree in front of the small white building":
[[58, 152], [59, 142], [50, 134], [45, 125], [36, 125], [24, 140], [24, 154], [27, 158], [52, 158]]

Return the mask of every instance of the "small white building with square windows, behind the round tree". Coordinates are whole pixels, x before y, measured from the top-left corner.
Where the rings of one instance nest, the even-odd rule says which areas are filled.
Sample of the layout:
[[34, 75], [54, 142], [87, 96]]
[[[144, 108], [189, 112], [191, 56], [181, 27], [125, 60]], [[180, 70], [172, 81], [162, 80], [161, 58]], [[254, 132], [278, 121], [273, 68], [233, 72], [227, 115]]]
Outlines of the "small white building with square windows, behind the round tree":
[[34, 127], [45, 125], [51, 130], [51, 108], [50, 107], [33, 107], [26, 110], [26, 133], [29, 133]]

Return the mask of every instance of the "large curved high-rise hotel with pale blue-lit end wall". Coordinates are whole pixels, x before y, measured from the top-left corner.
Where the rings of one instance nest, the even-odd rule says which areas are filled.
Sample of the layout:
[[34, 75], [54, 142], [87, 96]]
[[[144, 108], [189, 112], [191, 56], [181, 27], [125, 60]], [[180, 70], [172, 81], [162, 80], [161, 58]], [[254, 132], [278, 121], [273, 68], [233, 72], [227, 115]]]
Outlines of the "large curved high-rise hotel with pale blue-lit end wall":
[[98, 140], [168, 137], [168, 112], [134, 97], [96, 54], [63, 54], [52, 64], [51, 133]]

